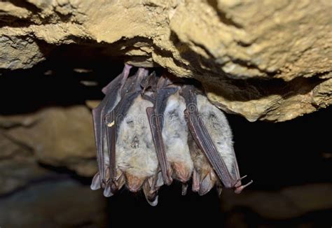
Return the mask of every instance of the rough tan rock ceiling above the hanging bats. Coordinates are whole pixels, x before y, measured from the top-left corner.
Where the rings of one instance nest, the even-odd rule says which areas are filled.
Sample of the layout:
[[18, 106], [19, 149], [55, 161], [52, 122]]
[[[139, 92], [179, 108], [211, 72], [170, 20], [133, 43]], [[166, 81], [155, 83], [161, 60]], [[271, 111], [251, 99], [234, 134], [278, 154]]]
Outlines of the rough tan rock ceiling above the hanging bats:
[[32, 67], [56, 45], [78, 43], [197, 78], [216, 106], [250, 121], [291, 120], [332, 102], [328, 0], [29, 0], [1, 8], [3, 69]]

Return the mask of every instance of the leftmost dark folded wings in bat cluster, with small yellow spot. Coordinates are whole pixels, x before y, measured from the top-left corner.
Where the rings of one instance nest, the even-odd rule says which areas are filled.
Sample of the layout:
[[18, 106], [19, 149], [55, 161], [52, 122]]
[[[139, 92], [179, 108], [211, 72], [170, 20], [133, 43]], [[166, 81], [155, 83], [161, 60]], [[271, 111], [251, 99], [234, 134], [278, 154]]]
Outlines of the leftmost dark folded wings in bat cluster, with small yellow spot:
[[118, 181], [123, 183], [122, 173], [116, 172], [116, 132], [130, 104], [141, 92], [139, 83], [147, 75], [145, 69], [139, 69], [131, 78], [129, 73], [130, 66], [126, 65], [123, 73], [103, 88], [106, 96], [92, 110], [99, 172], [92, 179], [91, 189], [103, 187], [106, 197], [118, 190]]

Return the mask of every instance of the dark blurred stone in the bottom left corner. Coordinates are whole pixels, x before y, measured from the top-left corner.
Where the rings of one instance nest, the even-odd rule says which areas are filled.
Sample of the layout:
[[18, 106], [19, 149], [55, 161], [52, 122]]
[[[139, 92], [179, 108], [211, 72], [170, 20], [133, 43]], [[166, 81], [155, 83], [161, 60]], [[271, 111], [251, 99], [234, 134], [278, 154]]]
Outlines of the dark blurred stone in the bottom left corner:
[[1, 227], [106, 227], [102, 194], [75, 180], [35, 183], [0, 199]]

